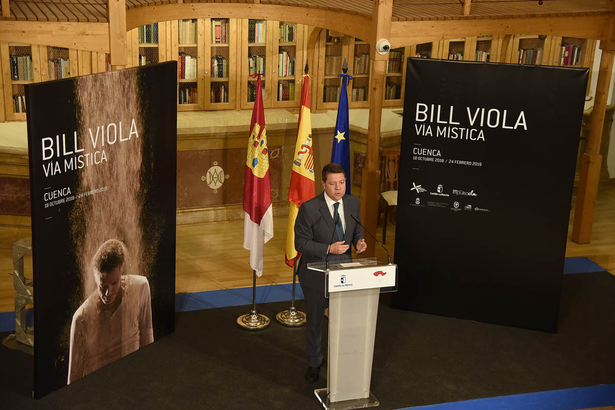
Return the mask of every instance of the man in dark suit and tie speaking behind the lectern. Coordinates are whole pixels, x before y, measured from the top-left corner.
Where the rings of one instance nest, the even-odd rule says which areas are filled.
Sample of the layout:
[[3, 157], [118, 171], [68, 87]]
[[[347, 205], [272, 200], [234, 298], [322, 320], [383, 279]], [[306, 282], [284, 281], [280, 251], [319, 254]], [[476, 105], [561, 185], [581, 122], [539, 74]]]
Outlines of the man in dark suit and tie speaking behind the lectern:
[[[346, 173], [339, 164], [330, 163], [322, 169], [324, 192], [301, 204], [295, 220], [295, 249], [303, 253], [297, 268], [306, 303], [306, 381], [319, 378], [322, 353], [322, 322], [327, 308], [325, 274], [308, 269], [308, 263], [352, 258], [350, 244], [358, 253], [367, 249], [363, 229], [351, 217], [359, 219], [359, 199], [346, 194]], [[334, 221], [339, 214], [338, 224]], [[331, 241], [333, 236], [333, 241]], [[332, 242], [332, 243], [331, 243]]]

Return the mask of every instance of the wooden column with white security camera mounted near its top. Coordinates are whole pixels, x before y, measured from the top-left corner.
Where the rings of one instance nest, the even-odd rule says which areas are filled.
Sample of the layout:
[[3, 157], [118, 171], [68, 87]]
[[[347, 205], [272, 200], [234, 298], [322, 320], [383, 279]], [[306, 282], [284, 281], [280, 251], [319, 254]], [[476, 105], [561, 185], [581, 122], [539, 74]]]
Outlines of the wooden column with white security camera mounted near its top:
[[[386, 64], [389, 53], [376, 51], [379, 39], [391, 38], [391, 14], [393, 0], [374, 0], [370, 36], [371, 80], [370, 80], [370, 117], [367, 129], [367, 163], [361, 179], [361, 220], [373, 234], [378, 226], [378, 195], [380, 193], [380, 122], [383, 110], [383, 93], [386, 83]], [[363, 257], [375, 255], [376, 242], [365, 234], [367, 250]]]

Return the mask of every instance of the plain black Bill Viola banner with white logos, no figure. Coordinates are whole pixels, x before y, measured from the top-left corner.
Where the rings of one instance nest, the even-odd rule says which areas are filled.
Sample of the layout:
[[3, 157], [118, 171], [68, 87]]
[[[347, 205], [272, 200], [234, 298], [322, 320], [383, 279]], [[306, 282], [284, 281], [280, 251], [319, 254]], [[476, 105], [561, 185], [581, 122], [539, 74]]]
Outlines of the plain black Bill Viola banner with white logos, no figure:
[[587, 75], [408, 59], [395, 308], [557, 331]]

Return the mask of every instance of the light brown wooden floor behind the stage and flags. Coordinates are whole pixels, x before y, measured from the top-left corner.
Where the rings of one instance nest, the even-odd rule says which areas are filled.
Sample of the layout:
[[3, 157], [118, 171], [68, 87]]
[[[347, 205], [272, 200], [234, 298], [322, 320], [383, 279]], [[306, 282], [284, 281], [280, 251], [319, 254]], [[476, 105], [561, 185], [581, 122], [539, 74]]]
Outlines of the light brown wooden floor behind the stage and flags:
[[[573, 211], [571, 211], [566, 257], [587, 257], [611, 273], [615, 273], [615, 187], [601, 190], [598, 194], [591, 244], [579, 245], [570, 240]], [[250, 253], [242, 247], [243, 225], [244, 222], [239, 220], [178, 226], [176, 292], [252, 286]], [[264, 274], [257, 280], [257, 285], [292, 282], [293, 271], [284, 263], [286, 226], [286, 217], [274, 219], [274, 238], [265, 245]], [[0, 236], [17, 239], [30, 236], [30, 231], [11, 228], [3, 230]], [[378, 239], [382, 238], [381, 228], [377, 236]], [[387, 248], [391, 255], [395, 249], [394, 239], [395, 226], [389, 224]], [[386, 260], [386, 253], [382, 249], [376, 249], [376, 256]], [[28, 273], [31, 275], [31, 257], [26, 258], [25, 271], [26, 276]], [[0, 312], [14, 310], [15, 292], [11, 272], [12, 252], [0, 250]]]

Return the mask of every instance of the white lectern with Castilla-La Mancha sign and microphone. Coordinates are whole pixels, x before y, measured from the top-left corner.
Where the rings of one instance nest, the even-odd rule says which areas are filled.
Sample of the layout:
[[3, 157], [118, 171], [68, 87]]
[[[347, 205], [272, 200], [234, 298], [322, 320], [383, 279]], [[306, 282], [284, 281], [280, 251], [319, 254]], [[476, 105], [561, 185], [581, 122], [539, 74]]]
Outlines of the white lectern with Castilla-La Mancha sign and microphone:
[[378, 299], [397, 290], [397, 265], [366, 258], [308, 269], [325, 273], [330, 298], [327, 389], [314, 393], [328, 410], [378, 406], [370, 393]]

